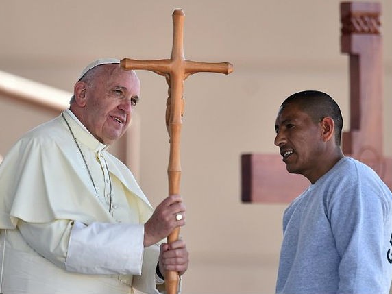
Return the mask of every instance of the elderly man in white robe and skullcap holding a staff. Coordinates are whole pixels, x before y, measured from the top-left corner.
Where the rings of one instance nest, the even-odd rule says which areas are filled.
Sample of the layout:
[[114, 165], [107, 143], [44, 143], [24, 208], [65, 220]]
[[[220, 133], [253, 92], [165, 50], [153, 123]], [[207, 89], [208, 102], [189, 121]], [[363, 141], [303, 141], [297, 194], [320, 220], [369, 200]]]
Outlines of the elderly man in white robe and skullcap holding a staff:
[[119, 60], [84, 69], [69, 109], [16, 142], [0, 165], [0, 293], [159, 293], [188, 268], [180, 195], [154, 210], [106, 149], [122, 136], [140, 82]]

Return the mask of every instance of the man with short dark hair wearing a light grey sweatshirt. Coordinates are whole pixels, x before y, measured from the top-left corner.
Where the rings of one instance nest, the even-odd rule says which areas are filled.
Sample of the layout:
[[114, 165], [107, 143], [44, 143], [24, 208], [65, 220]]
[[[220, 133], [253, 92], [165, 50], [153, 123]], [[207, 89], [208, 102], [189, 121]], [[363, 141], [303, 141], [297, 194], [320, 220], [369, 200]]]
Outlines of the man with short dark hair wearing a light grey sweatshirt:
[[343, 155], [343, 119], [326, 93], [287, 98], [275, 145], [310, 186], [284, 212], [276, 293], [387, 294], [392, 279], [392, 193], [367, 165]]

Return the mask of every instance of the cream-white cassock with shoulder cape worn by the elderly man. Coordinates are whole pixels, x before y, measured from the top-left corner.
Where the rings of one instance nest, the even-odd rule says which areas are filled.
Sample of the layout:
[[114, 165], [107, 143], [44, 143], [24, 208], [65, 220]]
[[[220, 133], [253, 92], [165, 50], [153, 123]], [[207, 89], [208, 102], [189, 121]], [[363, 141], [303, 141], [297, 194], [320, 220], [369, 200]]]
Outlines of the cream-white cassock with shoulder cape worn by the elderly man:
[[1, 293], [158, 293], [159, 247], [143, 248], [153, 208], [106, 149], [65, 110], [5, 156]]

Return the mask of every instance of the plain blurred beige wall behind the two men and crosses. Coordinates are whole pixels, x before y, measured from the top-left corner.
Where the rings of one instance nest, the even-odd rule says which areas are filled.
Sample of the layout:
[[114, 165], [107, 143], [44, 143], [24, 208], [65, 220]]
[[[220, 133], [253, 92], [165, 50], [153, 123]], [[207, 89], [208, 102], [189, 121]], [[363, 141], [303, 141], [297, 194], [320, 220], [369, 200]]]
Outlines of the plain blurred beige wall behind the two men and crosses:
[[[384, 152], [392, 156], [392, 5], [381, 3]], [[73, 91], [79, 71], [95, 58], [169, 58], [175, 8], [186, 15], [186, 59], [234, 64], [231, 75], [198, 73], [185, 82], [182, 194], [188, 212], [182, 234], [191, 265], [183, 292], [273, 293], [285, 205], [241, 204], [240, 156], [278, 152], [275, 114], [298, 90], [330, 93], [348, 127], [339, 1], [1, 1], [0, 70]], [[167, 195], [167, 84], [154, 73], [138, 75], [140, 184], [156, 205]], [[2, 127], [28, 120], [25, 110], [7, 109], [15, 119], [0, 121]]]

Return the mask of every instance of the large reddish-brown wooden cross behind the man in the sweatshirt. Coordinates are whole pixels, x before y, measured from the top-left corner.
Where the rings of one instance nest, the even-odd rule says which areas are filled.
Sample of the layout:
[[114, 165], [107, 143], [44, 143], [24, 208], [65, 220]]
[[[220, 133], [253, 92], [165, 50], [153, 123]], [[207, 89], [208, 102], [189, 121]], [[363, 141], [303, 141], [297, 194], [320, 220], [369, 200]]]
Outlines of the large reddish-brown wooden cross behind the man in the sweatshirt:
[[[392, 158], [383, 155], [382, 37], [379, 3], [341, 3], [341, 51], [350, 55], [350, 131], [342, 149], [372, 167], [392, 188]], [[288, 203], [310, 183], [286, 171], [278, 154], [243, 154], [242, 201]]]

